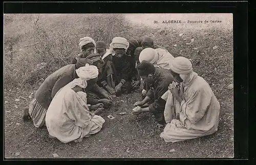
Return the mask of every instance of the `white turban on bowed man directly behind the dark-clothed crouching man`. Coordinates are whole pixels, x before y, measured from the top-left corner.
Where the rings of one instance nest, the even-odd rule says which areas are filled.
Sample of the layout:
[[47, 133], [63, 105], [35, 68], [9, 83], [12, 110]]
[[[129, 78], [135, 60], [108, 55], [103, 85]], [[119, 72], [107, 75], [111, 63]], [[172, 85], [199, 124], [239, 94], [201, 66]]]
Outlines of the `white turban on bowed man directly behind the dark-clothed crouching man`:
[[143, 60], [145, 60], [151, 64], [154, 64], [157, 62], [158, 57], [158, 52], [155, 49], [148, 47], [140, 52], [139, 61], [141, 63]]

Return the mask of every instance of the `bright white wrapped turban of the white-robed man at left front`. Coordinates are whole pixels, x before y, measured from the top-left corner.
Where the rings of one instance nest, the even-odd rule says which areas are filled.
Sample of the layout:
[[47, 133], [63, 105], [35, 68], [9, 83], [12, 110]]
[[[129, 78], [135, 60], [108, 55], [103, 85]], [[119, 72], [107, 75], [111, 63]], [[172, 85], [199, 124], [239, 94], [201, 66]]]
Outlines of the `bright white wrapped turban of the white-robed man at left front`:
[[94, 79], [94, 78], [98, 77], [99, 70], [94, 65], [86, 64], [86, 66], [76, 69], [76, 74], [81, 79], [84, 79], [87, 81], [89, 79]]

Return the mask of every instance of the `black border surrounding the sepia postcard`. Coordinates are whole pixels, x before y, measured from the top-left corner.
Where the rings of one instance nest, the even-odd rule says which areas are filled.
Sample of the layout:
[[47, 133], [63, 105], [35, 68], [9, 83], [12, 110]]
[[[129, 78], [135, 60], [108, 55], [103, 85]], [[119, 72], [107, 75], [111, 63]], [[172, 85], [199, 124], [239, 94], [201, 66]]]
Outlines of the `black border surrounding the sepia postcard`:
[[[249, 142], [249, 139], [248, 139], [248, 9], [247, 8], [248, 8], [248, 2], [79, 2], [79, 3], [78, 2], [70, 2], [70, 3], [4, 2], [3, 3], [3, 11], [6, 14], [7, 13], [233, 13], [234, 159], [244, 159], [244, 160], [249, 158], [249, 152], [248, 152], [248, 147], [249, 147], [248, 145], [248, 142]], [[231, 160], [234, 160], [234, 159], [231, 159]], [[115, 159], [115, 160], [122, 160], [122, 159]], [[130, 160], [130, 159], [126, 159], [126, 160]], [[143, 159], [138, 159], [138, 160], [143, 160]], [[147, 159], [147, 160], [154, 160], [154, 159]], [[163, 161], [168, 159], [161, 158], [159, 160]], [[169, 159], [169, 160], [181, 160], [181, 159]], [[188, 159], [188, 160], [191, 160], [191, 159]], [[211, 160], [215, 160], [215, 159], [211, 159]], [[224, 159], [218, 159], [218, 160], [223, 161], [227, 159], [224, 158]], [[14, 162], [17, 162], [17, 161], [14, 161]], [[27, 163], [27, 161], [25, 161], [25, 163]], [[178, 163], [181, 163], [181, 162], [178, 161]]]

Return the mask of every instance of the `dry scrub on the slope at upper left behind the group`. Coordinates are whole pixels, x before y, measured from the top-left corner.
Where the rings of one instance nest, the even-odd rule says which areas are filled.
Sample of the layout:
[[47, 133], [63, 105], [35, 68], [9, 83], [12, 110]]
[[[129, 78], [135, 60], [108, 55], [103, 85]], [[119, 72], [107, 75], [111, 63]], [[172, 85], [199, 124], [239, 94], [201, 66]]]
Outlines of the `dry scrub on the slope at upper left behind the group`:
[[[129, 32], [132, 30], [129, 22], [125, 22], [124, 17], [118, 14], [93, 14], [90, 17], [84, 16], [84, 19], [79, 17], [83, 26], [72, 25], [70, 23], [72, 20], [68, 18], [66, 22], [59, 21], [58, 26], [53, 22], [55, 27], [41, 22], [40, 15], [37, 17], [27, 15], [22, 18], [34, 19], [33, 24], [29, 25], [33, 29], [32, 33], [26, 36], [5, 35], [4, 77], [5, 85], [11, 87], [38, 85], [57, 69], [71, 64], [72, 59], [80, 51], [78, 43], [81, 37], [90, 36], [95, 41], [103, 40], [106, 44], [110, 44], [114, 37], [129, 37], [129, 34], [131, 35]], [[29, 40], [30, 44], [24, 46], [24, 40]], [[36, 69], [41, 63], [46, 65]]]

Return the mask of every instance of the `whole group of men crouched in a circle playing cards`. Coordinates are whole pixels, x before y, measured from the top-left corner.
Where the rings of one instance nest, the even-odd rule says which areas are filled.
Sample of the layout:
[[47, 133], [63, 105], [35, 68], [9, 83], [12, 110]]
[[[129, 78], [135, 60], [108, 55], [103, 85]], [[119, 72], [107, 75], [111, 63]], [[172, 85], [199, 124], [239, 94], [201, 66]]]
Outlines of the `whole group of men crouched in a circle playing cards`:
[[150, 112], [165, 142], [180, 142], [218, 130], [220, 104], [189, 59], [173, 57], [150, 37], [104, 41], [79, 40], [80, 53], [40, 85], [24, 108], [24, 121], [46, 126], [63, 143], [81, 141], [100, 131], [100, 116], [114, 96], [140, 92], [132, 113]]

